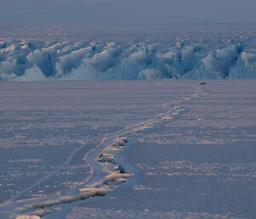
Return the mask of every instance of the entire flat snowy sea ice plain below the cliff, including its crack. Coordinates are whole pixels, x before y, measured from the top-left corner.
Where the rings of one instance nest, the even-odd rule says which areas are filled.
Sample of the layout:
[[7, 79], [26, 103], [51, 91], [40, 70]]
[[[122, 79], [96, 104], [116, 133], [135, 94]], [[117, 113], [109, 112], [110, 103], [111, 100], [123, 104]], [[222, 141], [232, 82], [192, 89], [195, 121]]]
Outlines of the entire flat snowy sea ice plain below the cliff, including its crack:
[[0, 83], [0, 218], [255, 218], [256, 81]]

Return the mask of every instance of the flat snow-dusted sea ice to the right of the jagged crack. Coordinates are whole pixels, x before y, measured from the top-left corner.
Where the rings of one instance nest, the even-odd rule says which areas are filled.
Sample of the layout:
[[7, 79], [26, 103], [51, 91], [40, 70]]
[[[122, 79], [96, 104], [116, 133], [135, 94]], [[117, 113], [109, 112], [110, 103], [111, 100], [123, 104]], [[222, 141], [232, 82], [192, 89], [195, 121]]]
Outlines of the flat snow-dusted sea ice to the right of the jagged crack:
[[140, 182], [67, 218], [255, 218], [255, 81], [209, 81], [204, 92], [137, 134], [128, 159]]

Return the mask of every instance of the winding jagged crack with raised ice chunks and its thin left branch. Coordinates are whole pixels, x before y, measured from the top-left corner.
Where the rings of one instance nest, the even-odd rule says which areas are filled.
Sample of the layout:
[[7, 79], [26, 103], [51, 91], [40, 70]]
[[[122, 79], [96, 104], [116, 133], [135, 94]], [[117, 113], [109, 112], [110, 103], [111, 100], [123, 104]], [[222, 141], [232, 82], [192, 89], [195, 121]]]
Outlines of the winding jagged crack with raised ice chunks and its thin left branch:
[[[0, 205], [0, 209], [2, 208], [2, 212], [5, 215], [11, 216], [11, 218], [38, 219], [55, 211], [55, 209], [52, 208], [55, 205], [72, 203], [95, 196], [105, 196], [115, 191], [120, 183], [126, 182], [131, 176], [135, 176], [129, 161], [125, 163], [121, 157], [124, 156], [125, 147], [127, 147], [131, 141], [137, 141], [137, 133], [146, 129], [152, 129], [155, 125], [160, 125], [161, 123], [166, 123], [177, 118], [181, 113], [187, 111], [180, 106], [182, 103], [192, 101], [201, 95], [207, 95], [207, 91], [201, 87], [196, 87], [192, 94], [184, 96], [177, 101], [163, 104], [163, 112], [154, 117], [137, 124], [129, 125], [124, 130], [106, 135], [101, 143], [84, 155], [84, 160], [90, 166], [90, 176], [86, 179], [84, 184], [61, 195], [42, 199], [41, 201], [16, 200], [21, 194], [28, 192], [32, 187], [36, 187], [38, 184], [44, 182], [46, 178], [55, 174], [56, 171], [61, 171], [63, 166], [71, 162], [74, 154], [78, 153], [79, 150], [84, 147], [83, 145], [73, 151], [67, 158], [67, 161], [62, 164], [58, 170], [55, 170], [55, 172], [49, 176], [45, 176], [31, 187], [27, 187], [2, 206]], [[91, 142], [92, 141], [90, 141], [90, 143]]]

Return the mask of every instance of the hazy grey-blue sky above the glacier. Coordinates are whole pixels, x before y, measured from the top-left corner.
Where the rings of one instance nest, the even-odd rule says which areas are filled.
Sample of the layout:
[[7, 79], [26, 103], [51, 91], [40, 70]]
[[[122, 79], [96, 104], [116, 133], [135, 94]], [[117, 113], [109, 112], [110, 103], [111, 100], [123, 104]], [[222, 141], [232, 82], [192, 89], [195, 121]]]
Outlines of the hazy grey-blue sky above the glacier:
[[0, 0], [0, 25], [256, 22], [256, 0]]

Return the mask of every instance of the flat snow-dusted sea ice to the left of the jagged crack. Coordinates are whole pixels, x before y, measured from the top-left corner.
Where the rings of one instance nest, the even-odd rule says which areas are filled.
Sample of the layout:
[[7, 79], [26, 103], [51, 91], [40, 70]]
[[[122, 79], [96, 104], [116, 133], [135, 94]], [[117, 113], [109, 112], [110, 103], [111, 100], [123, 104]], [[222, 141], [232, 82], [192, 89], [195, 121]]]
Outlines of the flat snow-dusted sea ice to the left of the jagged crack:
[[169, 83], [2, 82], [1, 203], [53, 197], [87, 182], [84, 156], [106, 135], [132, 130], [193, 89]]

